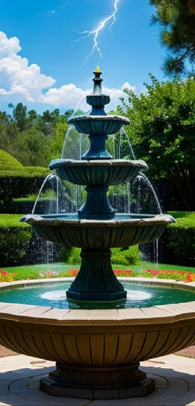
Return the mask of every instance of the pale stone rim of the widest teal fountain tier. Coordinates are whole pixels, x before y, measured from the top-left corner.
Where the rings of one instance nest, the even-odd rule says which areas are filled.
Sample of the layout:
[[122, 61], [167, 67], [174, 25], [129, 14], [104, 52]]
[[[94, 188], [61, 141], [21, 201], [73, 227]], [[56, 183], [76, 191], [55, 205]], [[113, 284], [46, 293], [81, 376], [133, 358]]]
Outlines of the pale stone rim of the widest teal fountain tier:
[[[57, 215], [56, 215], [57, 216]], [[129, 227], [129, 226], [157, 226], [157, 225], [167, 225], [175, 223], [175, 219], [169, 214], [157, 214], [154, 217], [146, 218], [130, 218], [130, 219], [113, 219], [113, 220], [86, 220], [86, 219], [76, 219], [69, 217], [68, 214], [59, 215], [59, 218], [42, 217], [39, 214], [27, 214], [22, 217], [20, 221], [26, 222], [28, 224], [45, 224], [49, 226], [61, 226], [66, 224], [67, 226], [82, 226], [82, 227]]]

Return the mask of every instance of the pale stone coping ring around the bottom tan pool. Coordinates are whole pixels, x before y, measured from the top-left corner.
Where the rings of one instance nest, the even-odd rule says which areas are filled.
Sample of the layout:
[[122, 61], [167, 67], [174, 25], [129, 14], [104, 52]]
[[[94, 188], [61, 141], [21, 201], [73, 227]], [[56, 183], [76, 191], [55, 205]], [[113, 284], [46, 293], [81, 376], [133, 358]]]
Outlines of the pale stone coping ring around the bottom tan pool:
[[[38, 279], [29, 281], [4, 282], [0, 289], [16, 286], [29, 286], [72, 281], [74, 278]], [[150, 285], [164, 285], [172, 288], [190, 288], [195, 290], [195, 283], [164, 281], [154, 278], [119, 278], [123, 282], [142, 282]], [[152, 307], [106, 310], [58, 309], [49, 306], [35, 306], [18, 303], [0, 302], [0, 320], [13, 320], [20, 323], [36, 323], [66, 326], [95, 325], [157, 325], [195, 319], [195, 301], [177, 304], [165, 304]]]

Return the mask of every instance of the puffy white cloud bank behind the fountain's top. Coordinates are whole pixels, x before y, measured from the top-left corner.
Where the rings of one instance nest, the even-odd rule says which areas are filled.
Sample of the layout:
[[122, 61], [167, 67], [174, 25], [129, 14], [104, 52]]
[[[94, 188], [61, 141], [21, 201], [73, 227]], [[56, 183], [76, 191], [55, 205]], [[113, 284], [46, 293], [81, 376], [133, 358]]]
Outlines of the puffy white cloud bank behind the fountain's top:
[[[8, 38], [0, 31], [0, 99], [3, 96], [15, 96], [15, 100], [23, 97], [28, 102], [48, 103], [54, 106], [66, 106], [75, 108], [77, 103], [83, 98], [80, 108], [89, 109], [85, 102], [85, 96], [90, 94], [90, 90], [82, 90], [73, 83], [63, 85], [60, 88], [52, 88], [56, 80], [51, 76], [41, 73], [41, 68], [32, 63], [29, 64], [27, 58], [18, 55], [21, 51], [19, 40], [16, 37]], [[103, 87], [103, 92], [109, 94], [111, 98], [110, 108], [114, 108], [119, 103], [119, 97], [123, 94], [123, 89], [135, 90], [128, 82], [125, 82], [120, 89], [107, 89]], [[43, 90], [47, 90], [45, 93]]]

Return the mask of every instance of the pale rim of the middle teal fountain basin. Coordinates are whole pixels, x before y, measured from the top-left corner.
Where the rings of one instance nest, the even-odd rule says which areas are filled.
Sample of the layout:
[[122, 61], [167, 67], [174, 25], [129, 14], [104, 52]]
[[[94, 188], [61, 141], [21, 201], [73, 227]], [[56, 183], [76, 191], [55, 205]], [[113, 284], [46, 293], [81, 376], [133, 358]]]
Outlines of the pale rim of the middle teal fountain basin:
[[51, 161], [49, 167], [57, 168], [60, 166], [140, 166], [143, 169], [148, 169], [145, 161], [129, 160], [129, 159], [94, 159], [94, 160], [74, 160], [74, 159], [54, 159]]

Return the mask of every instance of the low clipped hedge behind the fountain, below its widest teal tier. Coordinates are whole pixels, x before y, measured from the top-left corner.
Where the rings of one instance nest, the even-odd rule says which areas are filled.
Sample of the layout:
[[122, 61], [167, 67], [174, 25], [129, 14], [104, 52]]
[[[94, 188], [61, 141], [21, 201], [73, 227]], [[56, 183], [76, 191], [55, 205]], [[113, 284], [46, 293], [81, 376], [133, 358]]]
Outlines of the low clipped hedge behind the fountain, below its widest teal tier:
[[[169, 213], [177, 221], [165, 229], [159, 240], [159, 262], [195, 267], [195, 212]], [[0, 214], [0, 267], [46, 262], [46, 241], [35, 238], [31, 226], [19, 223], [21, 216]], [[59, 254], [60, 246], [52, 244], [49, 260], [58, 261]], [[80, 260], [79, 254], [79, 249], [62, 248], [61, 259], [74, 265]], [[137, 247], [113, 249], [114, 264], [128, 266], [137, 260]]]

